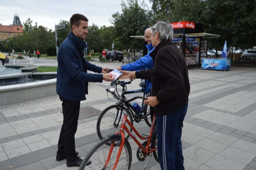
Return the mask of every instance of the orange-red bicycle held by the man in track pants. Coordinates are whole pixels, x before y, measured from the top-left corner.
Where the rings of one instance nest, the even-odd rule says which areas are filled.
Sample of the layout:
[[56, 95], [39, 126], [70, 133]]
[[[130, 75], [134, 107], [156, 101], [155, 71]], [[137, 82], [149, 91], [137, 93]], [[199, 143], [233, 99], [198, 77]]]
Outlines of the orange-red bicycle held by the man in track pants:
[[[119, 95], [115, 93], [114, 88], [107, 89], [107, 91], [120, 100], [122, 105], [121, 113], [124, 109], [124, 102], [130, 102], [135, 99], [147, 99], [146, 97], [137, 96], [127, 100], [122, 98], [122, 96], [119, 97]], [[130, 106], [126, 108], [126, 113], [124, 113], [120, 130], [116, 132], [116, 134], [108, 135], [96, 144], [84, 158], [79, 170], [129, 170], [132, 164], [132, 148], [129, 141], [125, 138], [124, 131], [126, 131], [139, 146], [137, 149], [137, 159], [139, 161], [144, 161], [146, 157], [149, 156], [149, 162], [153, 155], [156, 161], [159, 162], [156, 147], [157, 132], [156, 127], [154, 127], [156, 117], [154, 116], [149, 135], [140, 135], [132, 123], [127, 119], [129, 108]], [[145, 141], [140, 143], [126, 126], [126, 123], [140, 139]], [[88, 160], [91, 160], [92, 164], [86, 166]], [[146, 166], [148, 162], [146, 163]], [[147, 170], [146, 166], [144, 170]]]

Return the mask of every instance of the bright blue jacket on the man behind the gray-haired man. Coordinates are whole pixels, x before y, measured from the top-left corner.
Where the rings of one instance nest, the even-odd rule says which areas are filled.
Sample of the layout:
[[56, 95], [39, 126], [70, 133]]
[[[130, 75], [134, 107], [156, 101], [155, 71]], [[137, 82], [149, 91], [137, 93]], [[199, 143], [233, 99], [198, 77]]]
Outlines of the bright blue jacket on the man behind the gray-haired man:
[[[153, 63], [152, 57], [150, 57], [149, 54], [155, 49], [155, 47], [152, 47], [152, 43], [150, 43], [149, 45], [146, 45], [146, 47], [149, 50], [147, 55], [141, 57], [140, 59], [138, 59], [133, 63], [121, 66], [121, 69], [124, 71], [138, 71], [141, 69], [152, 69], [154, 66], [154, 63]], [[146, 93], [151, 92], [152, 82], [146, 79], [145, 85], [146, 85], [145, 92]]]

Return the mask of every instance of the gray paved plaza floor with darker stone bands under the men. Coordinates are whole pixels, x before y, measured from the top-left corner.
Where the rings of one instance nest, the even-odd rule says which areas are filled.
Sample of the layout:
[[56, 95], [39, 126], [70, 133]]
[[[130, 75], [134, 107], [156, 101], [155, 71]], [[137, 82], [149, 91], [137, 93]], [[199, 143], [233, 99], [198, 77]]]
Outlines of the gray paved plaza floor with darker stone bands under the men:
[[[101, 67], [121, 65], [120, 62], [93, 63]], [[256, 170], [256, 68], [231, 67], [231, 71], [193, 68], [189, 69], [189, 78], [191, 92], [182, 128], [185, 169]], [[128, 90], [139, 89], [139, 82], [136, 79], [127, 85]], [[106, 93], [109, 85], [105, 81], [89, 83], [89, 95], [81, 107], [103, 111], [114, 105], [115, 99]], [[78, 169], [67, 168], [66, 159], [55, 160], [63, 121], [61, 104], [56, 95], [0, 107], [0, 170]], [[97, 119], [98, 116], [93, 116], [78, 121], [76, 151], [81, 158], [99, 141]], [[150, 131], [144, 121], [134, 125], [140, 133]], [[147, 160], [137, 160], [138, 146], [130, 138], [129, 141], [131, 169], [143, 170]], [[161, 169], [153, 157], [147, 168]]]

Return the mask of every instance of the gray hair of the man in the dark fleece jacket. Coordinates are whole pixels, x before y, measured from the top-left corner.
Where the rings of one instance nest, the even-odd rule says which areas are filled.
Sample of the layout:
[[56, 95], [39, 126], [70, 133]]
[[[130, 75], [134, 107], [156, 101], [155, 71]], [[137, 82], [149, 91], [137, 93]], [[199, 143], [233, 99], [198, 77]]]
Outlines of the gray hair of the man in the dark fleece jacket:
[[156, 35], [156, 32], [159, 32], [159, 39], [160, 40], [172, 40], [173, 38], [173, 29], [172, 29], [172, 24], [168, 22], [157, 22], [152, 29], [152, 34], [153, 36]]

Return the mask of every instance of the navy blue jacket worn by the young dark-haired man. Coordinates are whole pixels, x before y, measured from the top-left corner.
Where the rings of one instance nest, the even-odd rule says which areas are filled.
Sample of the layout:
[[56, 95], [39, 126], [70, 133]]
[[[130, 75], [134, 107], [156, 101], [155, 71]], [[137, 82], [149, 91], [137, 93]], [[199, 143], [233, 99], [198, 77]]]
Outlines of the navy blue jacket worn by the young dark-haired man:
[[87, 70], [101, 73], [102, 67], [84, 59], [82, 51], [86, 44], [70, 32], [58, 51], [58, 71], [56, 92], [59, 96], [73, 100], [85, 100], [88, 94], [88, 82], [102, 82], [102, 74], [87, 73]]

